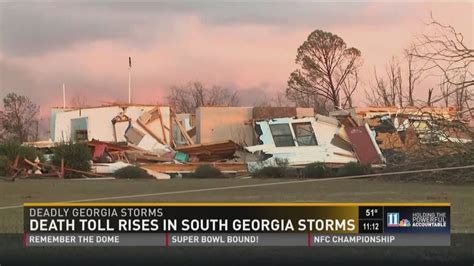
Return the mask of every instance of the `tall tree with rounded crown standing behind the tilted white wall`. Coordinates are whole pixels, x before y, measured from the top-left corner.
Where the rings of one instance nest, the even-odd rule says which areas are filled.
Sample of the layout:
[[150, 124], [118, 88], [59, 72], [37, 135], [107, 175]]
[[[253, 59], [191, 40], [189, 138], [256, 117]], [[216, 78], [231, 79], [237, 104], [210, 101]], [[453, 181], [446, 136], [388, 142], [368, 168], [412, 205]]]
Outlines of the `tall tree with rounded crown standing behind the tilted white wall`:
[[[313, 31], [298, 48], [296, 63], [300, 69], [290, 74], [287, 95], [291, 98], [318, 96], [338, 108], [344, 82], [357, 77], [355, 71], [361, 64], [360, 56], [358, 49], [348, 48], [339, 36], [322, 30]], [[347, 92], [346, 98], [354, 90]]]

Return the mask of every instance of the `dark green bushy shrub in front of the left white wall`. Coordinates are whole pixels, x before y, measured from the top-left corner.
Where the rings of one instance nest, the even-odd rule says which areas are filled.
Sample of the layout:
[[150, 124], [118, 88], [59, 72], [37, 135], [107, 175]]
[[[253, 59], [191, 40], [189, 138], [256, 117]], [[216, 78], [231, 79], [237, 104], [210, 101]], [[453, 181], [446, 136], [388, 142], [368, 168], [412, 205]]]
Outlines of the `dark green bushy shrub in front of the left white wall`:
[[[64, 167], [72, 168], [80, 171], [90, 171], [92, 155], [90, 149], [80, 143], [62, 143], [54, 148], [52, 163], [61, 166], [61, 159], [64, 159]], [[78, 173], [66, 171], [65, 177], [78, 177]]]

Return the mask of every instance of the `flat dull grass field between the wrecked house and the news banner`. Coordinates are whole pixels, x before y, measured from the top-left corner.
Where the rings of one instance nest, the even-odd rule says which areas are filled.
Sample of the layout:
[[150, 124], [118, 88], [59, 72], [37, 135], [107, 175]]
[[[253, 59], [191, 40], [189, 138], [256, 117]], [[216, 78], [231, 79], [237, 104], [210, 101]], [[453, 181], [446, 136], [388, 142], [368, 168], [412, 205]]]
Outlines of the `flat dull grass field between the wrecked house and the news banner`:
[[[303, 181], [303, 182], [301, 182]], [[279, 182], [285, 182], [277, 184]], [[474, 232], [474, 184], [380, 179], [0, 181], [0, 233], [23, 232], [25, 202], [449, 202], [452, 232]]]

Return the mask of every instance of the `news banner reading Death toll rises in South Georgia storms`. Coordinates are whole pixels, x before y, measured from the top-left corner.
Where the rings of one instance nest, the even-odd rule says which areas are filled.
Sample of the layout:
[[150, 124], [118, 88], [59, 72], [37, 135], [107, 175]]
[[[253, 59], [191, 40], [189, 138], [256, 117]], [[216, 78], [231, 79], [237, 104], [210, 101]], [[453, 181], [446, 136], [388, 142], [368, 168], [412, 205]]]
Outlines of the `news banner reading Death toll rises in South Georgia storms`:
[[449, 246], [450, 204], [27, 203], [24, 245]]

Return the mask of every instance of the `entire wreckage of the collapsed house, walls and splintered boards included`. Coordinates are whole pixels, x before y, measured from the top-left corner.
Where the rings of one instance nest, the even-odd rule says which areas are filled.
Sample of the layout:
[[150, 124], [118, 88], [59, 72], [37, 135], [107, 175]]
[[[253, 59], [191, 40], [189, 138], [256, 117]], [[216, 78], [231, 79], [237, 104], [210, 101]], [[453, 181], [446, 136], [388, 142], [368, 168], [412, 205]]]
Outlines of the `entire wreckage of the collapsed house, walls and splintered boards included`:
[[459, 137], [456, 127], [440, 126], [455, 121], [454, 113], [353, 108], [323, 116], [312, 108], [199, 107], [196, 114], [175, 114], [169, 106], [124, 104], [56, 108], [50, 143], [87, 143], [91, 174], [97, 176], [130, 165], [159, 179], [192, 173], [204, 164], [234, 174], [281, 161], [294, 168], [315, 162], [384, 167], [387, 151], [434, 141], [470, 142], [472, 137]]

